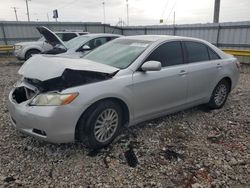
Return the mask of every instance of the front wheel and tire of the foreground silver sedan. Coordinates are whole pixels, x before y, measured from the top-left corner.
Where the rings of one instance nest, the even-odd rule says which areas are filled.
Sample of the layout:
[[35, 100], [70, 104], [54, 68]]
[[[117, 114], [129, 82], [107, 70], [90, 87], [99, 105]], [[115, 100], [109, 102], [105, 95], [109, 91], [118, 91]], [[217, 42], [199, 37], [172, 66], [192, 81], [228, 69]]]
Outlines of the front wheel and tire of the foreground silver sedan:
[[100, 102], [80, 118], [78, 139], [91, 149], [103, 148], [118, 136], [122, 122], [122, 109], [118, 104]]

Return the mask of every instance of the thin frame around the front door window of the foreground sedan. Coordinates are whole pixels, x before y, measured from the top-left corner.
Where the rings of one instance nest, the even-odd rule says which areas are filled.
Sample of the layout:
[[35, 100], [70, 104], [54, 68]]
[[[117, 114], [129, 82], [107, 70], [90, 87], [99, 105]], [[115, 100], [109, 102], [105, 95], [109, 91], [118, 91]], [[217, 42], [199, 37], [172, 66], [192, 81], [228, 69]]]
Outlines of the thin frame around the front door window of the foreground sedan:
[[136, 69], [136, 71], [142, 71], [141, 70], [141, 66], [146, 62], [146, 59], [158, 48], [160, 47], [161, 45], [163, 44], [166, 44], [166, 43], [170, 43], [170, 42], [179, 42], [180, 43], [180, 46], [181, 46], [181, 54], [182, 54], [182, 63], [181, 64], [178, 64], [178, 65], [170, 65], [170, 66], [165, 66], [165, 67], [161, 67], [161, 69], [165, 69], [165, 68], [168, 68], [168, 67], [174, 67], [174, 66], [180, 66], [180, 65], [184, 65], [186, 64], [185, 63], [185, 56], [184, 56], [184, 49], [183, 49], [183, 46], [182, 46], [182, 41], [181, 40], [170, 40], [170, 41], [163, 41], [161, 43], [159, 43], [157, 46], [155, 46], [144, 58], [143, 60], [141, 61], [141, 64], [138, 66], [138, 68]]

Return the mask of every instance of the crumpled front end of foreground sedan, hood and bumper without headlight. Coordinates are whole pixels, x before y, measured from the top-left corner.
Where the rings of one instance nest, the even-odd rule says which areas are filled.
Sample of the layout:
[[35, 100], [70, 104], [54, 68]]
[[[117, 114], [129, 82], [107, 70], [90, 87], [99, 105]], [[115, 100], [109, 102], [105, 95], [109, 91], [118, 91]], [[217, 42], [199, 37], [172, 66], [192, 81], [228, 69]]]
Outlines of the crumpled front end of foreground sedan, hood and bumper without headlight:
[[[99, 70], [101, 71], [99, 72]], [[20, 68], [23, 79], [9, 94], [8, 109], [16, 129], [37, 138], [66, 143], [75, 139], [75, 127], [88, 101], [74, 101], [61, 106], [31, 106], [38, 94], [77, 93], [77, 87], [111, 79], [116, 68], [79, 59], [34, 56]], [[79, 93], [81, 95], [81, 93]], [[80, 98], [80, 96], [79, 96]]]

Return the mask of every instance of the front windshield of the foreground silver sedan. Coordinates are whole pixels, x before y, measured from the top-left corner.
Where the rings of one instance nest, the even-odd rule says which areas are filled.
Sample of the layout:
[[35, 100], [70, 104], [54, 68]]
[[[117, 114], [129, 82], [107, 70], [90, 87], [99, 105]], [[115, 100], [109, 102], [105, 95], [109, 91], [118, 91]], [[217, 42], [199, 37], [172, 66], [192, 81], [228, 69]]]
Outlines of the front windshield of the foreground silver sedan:
[[137, 59], [149, 44], [149, 41], [116, 39], [96, 48], [84, 58], [124, 69]]

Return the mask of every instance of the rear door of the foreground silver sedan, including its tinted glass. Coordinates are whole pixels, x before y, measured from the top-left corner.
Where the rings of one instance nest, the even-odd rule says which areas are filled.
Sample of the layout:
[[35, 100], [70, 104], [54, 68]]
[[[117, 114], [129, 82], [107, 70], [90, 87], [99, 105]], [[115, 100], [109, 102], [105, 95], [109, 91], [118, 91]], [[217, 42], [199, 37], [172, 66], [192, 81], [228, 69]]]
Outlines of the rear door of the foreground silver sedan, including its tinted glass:
[[207, 45], [184, 41], [188, 63], [188, 102], [197, 102], [209, 97], [211, 85], [219, 75], [219, 56]]

